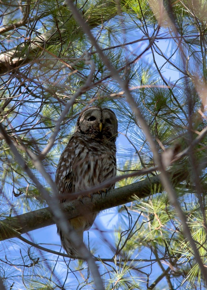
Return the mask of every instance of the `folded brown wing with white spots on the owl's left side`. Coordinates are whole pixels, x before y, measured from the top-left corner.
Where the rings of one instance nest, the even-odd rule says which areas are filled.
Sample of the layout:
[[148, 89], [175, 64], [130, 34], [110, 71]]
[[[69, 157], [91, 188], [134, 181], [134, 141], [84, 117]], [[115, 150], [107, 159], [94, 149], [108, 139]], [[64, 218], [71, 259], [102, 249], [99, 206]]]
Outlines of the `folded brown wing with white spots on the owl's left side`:
[[[60, 160], [57, 165], [57, 171], [55, 175], [55, 183], [59, 194], [68, 194], [74, 192], [72, 164], [75, 160], [75, 146], [74, 138], [68, 142], [68, 145], [63, 150]], [[66, 198], [60, 199], [60, 202], [65, 202]]]

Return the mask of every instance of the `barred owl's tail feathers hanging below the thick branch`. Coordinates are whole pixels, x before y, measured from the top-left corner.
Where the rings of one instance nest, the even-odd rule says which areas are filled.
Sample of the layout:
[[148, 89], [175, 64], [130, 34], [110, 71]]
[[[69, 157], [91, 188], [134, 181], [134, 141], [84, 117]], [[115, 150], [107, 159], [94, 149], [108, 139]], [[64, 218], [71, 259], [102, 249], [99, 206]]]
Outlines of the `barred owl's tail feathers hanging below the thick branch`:
[[[63, 249], [67, 252], [67, 254], [70, 256], [70, 258], [78, 258], [81, 256], [79, 253], [79, 249], [76, 247], [76, 245], [70, 240], [70, 236], [63, 234], [63, 232], [57, 228], [57, 233], [60, 236], [61, 244]], [[77, 231], [77, 234], [79, 235], [80, 239], [83, 241], [83, 230]]]

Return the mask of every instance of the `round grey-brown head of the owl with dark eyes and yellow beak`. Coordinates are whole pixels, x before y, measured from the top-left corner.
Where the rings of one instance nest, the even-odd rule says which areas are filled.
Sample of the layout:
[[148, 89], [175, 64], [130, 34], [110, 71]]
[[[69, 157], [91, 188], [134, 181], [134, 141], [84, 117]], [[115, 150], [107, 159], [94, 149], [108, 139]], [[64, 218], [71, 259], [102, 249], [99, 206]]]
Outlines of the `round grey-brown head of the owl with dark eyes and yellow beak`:
[[92, 106], [80, 113], [75, 131], [95, 140], [115, 142], [117, 128], [117, 118], [112, 110]]

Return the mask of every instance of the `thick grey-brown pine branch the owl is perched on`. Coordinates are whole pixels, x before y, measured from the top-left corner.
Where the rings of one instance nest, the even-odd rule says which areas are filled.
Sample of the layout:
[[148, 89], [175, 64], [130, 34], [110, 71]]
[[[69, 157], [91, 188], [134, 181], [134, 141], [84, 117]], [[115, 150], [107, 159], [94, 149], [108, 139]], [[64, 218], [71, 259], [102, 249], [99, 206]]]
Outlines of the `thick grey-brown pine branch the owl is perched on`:
[[[151, 188], [154, 188], [155, 184], [160, 184], [159, 175], [112, 189], [108, 191], [106, 196], [103, 194], [103, 198], [100, 194], [94, 194], [92, 201], [89, 197], [83, 197], [83, 204], [79, 200], [72, 200], [60, 204], [60, 206], [68, 219], [77, 218], [88, 212], [103, 211], [130, 202], [133, 200], [133, 195], [139, 198], [149, 196]], [[158, 188], [159, 186], [157, 186]], [[55, 222], [48, 207], [15, 217], [8, 217], [0, 222], [0, 240], [18, 237], [19, 234], [51, 224], [55, 224]]]

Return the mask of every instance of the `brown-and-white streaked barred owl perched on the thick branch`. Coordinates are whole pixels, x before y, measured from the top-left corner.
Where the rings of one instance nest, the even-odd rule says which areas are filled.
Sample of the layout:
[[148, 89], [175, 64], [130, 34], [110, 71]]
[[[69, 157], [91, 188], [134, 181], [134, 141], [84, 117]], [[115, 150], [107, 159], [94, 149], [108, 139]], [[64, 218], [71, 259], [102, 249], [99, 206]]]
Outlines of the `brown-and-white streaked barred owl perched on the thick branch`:
[[[60, 156], [55, 183], [61, 194], [79, 192], [101, 184], [116, 175], [117, 119], [112, 110], [92, 106], [81, 112], [75, 133]], [[115, 184], [108, 186], [113, 189]], [[100, 192], [99, 192], [100, 193]], [[104, 198], [104, 195], [103, 195]], [[60, 202], [66, 202], [62, 199]], [[69, 220], [83, 240], [83, 231], [90, 229], [98, 213]], [[71, 258], [80, 256], [69, 236], [58, 228], [61, 244]]]

